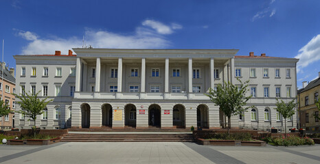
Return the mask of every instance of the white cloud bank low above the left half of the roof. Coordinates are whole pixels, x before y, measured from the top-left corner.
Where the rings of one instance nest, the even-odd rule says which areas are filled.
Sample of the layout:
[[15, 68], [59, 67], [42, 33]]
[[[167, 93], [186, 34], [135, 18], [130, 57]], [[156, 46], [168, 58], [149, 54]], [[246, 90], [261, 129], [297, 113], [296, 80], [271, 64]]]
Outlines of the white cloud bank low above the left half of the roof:
[[[166, 28], [168, 27], [168, 28]], [[170, 26], [157, 21], [144, 21], [136, 27], [133, 33], [113, 33], [107, 30], [85, 29], [85, 42], [87, 46], [104, 49], [165, 49], [170, 47], [171, 42], [163, 35], [173, 33], [174, 29], [182, 26], [172, 23]], [[30, 41], [23, 47], [21, 54], [53, 54], [54, 51], [62, 51], [67, 54], [71, 48], [82, 47], [82, 37], [60, 38], [58, 36], [42, 38], [31, 31], [18, 31], [16, 36]]]

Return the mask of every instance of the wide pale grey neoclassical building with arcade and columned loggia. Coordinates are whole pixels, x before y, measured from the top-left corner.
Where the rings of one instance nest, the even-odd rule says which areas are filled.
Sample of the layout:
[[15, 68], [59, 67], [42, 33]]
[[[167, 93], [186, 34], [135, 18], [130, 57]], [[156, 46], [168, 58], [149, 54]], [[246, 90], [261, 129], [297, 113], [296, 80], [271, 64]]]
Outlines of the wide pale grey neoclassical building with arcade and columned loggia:
[[[282, 128], [275, 98], [297, 95], [298, 59], [237, 49], [73, 49], [76, 55], [14, 55], [21, 88], [52, 102], [39, 115], [41, 128], [221, 128], [225, 116], [205, 93], [209, 87], [250, 80], [253, 109], [231, 118], [232, 127]], [[19, 110], [19, 105], [16, 105]], [[72, 114], [71, 114], [72, 113]], [[30, 128], [23, 115], [16, 127]], [[296, 127], [296, 115], [287, 120]]]

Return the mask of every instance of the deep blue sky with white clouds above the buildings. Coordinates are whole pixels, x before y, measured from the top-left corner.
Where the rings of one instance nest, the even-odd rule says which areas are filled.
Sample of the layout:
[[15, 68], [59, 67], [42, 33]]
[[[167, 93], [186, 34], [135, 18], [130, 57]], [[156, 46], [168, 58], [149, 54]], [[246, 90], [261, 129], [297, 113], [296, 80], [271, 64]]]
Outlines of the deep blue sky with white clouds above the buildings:
[[0, 39], [12, 55], [82, 46], [240, 49], [299, 57], [297, 84], [320, 71], [320, 1], [0, 1]]

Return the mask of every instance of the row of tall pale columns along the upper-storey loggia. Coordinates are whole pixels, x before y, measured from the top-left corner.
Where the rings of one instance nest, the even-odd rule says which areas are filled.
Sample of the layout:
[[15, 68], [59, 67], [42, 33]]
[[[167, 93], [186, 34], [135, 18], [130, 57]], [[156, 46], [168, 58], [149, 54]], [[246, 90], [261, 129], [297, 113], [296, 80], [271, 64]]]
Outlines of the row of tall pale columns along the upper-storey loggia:
[[[192, 58], [188, 59], [188, 92], [192, 92]], [[95, 67], [95, 92], [100, 92], [100, 72], [101, 61], [100, 57], [97, 57], [97, 63]], [[83, 78], [83, 77], [82, 77]], [[81, 59], [77, 57], [76, 61], [76, 92], [80, 92], [81, 81]], [[141, 59], [141, 92], [146, 92], [146, 58]], [[210, 87], [214, 88], [214, 58], [210, 58]], [[117, 92], [122, 92], [122, 57], [118, 59], [118, 71], [117, 71]], [[169, 92], [169, 58], [165, 58], [165, 93]]]

